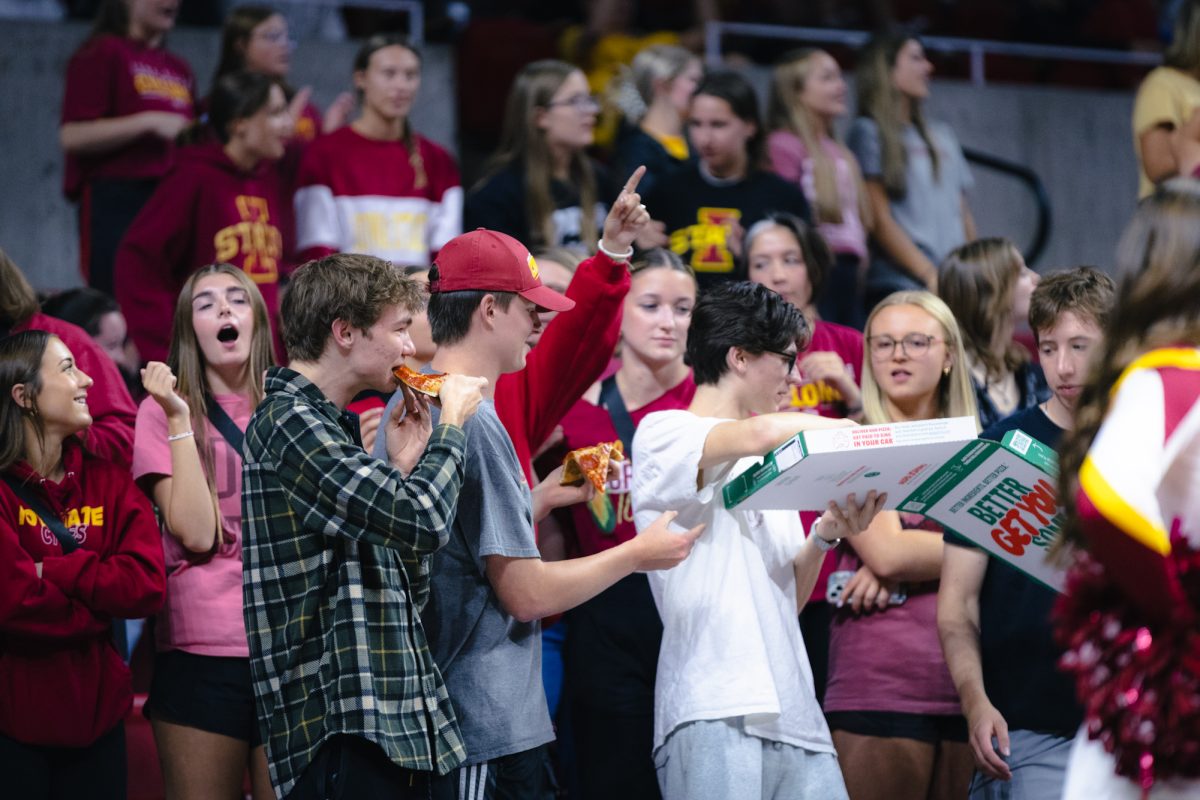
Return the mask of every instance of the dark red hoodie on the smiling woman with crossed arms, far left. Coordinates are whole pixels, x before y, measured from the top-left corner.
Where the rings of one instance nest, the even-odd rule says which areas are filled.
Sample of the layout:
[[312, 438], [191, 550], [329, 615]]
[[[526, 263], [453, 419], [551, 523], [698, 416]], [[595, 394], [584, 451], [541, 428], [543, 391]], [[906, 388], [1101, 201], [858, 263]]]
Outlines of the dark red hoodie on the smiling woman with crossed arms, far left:
[[[54, 534], [0, 482], [0, 734], [30, 745], [85, 747], [130, 710], [130, 670], [113, 618], [162, 606], [167, 576], [150, 501], [128, 470], [64, 443], [66, 476], [24, 463], [7, 475], [37, 492], [79, 542]], [[36, 564], [42, 564], [37, 577]]]

